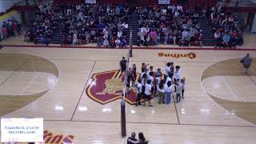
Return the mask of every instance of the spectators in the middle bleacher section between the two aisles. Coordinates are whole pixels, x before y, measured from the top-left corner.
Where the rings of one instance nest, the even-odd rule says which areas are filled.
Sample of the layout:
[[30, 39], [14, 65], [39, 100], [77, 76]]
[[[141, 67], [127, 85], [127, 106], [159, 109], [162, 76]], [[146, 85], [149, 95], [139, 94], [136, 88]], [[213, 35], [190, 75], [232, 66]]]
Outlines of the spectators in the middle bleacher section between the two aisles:
[[138, 7], [138, 46], [158, 44], [202, 45], [198, 10], [183, 10], [181, 5]]

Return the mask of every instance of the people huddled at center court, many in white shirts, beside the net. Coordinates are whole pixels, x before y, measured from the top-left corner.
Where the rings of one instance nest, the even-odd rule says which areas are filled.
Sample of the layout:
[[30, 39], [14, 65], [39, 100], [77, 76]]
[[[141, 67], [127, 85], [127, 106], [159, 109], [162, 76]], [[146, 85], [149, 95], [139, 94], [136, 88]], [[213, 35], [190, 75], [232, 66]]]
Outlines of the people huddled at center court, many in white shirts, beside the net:
[[[142, 73], [137, 78], [136, 65], [129, 67], [126, 71], [126, 58], [122, 58], [120, 61], [120, 69], [122, 74], [127, 76], [126, 78], [126, 92], [129, 92], [130, 86], [136, 86], [137, 99], [136, 106], [146, 106], [146, 101], [151, 105], [152, 98], [158, 98], [159, 104], [169, 105], [172, 97], [174, 102], [178, 103], [181, 98], [184, 98], [185, 91], [185, 78], [180, 78], [180, 66], [174, 67], [174, 62], [166, 62], [166, 68], [164, 74], [160, 68], [154, 72], [154, 67], [149, 66], [146, 63], [142, 63]], [[136, 82], [137, 79], [137, 82]]]

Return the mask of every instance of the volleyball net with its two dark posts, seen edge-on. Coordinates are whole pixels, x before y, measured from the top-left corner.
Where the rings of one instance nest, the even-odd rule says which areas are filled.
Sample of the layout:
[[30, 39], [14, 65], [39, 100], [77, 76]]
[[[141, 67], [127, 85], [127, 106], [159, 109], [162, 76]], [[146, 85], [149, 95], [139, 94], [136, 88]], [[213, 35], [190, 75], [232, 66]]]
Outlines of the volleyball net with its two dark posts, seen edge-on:
[[121, 134], [122, 137], [126, 137], [126, 102], [125, 102], [125, 98], [126, 98], [126, 83], [127, 83], [127, 77], [128, 77], [128, 69], [130, 67], [130, 60], [132, 57], [132, 30], [130, 30], [130, 44], [128, 47], [128, 52], [127, 52], [127, 65], [126, 65], [126, 74], [125, 74], [125, 78], [123, 81], [123, 89], [122, 89], [122, 102], [121, 102]]

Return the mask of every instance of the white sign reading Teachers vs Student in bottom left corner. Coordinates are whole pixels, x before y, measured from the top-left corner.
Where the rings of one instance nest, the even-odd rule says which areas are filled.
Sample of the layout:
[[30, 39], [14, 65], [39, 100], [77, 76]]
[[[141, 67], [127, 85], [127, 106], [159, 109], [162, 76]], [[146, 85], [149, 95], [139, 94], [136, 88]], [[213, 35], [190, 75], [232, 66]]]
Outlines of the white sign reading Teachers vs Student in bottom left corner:
[[1, 142], [43, 142], [43, 118], [1, 118]]

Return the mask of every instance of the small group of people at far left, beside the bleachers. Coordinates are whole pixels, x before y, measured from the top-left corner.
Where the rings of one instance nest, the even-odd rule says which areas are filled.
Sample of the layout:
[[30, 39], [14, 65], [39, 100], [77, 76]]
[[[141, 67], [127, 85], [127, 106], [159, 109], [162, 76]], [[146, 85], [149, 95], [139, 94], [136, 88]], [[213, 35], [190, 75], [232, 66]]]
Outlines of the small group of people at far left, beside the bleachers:
[[0, 33], [0, 41], [6, 40], [7, 38], [12, 38], [17, 35], [22, 34], [22, 24], [18, 21], [14, 20], [8, 20], [8, 22], [2, 23], [2, 36]]

